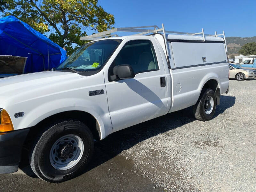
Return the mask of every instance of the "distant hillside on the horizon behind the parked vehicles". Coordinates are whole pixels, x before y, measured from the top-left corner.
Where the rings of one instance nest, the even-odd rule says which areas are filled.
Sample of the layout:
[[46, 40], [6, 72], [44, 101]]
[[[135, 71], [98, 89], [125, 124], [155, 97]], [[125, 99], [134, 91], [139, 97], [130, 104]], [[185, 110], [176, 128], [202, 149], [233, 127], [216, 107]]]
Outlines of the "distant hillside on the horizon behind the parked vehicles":
[[239, 55], [238, 51], [244, 44], [256, 42], [256, 36], [254, 36], [254, 37], [226, 37], [226, 41], [227, 41], [227, 47], [228, 47], [228, 56]]

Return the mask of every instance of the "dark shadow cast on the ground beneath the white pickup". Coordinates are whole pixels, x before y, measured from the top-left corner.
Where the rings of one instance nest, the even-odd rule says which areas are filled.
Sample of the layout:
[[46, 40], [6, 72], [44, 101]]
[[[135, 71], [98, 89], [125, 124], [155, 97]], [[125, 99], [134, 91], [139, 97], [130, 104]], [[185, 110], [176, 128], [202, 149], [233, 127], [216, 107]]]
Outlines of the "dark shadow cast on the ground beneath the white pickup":
[[[220, 98], [221, 103], [217, 106], [214, 117], [224, 113], [227, 108], [232, 107], [236, 100], [236, 97], [232, 96], [221, 95]], [[189, 107], [115, 132], [104, 140], [95, 142], [95, 151], [92, 161], [81, 174], [107, 162], [122, 151], [133, 147], [143, 140], [193, 121], [196, 121], [196, 119], [193, 116], [192, 107]], [[127, 163], [125, 159], [123, 161], [124, 162], [120, 162], [122, 165]], [[28, 166], [28, 156], [26, 153], [23, 154], [20, 169], [30, 177], [36, 177]]]

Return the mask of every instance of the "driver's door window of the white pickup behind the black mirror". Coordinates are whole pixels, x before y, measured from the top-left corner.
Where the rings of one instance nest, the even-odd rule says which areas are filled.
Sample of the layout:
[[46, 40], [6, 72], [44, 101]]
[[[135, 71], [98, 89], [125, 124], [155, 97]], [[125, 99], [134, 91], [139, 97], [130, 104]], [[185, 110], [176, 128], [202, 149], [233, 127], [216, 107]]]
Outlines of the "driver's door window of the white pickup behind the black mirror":
[[135, 74], [159, 70], [156, 53], [149, 40], [127, 42], [109, 68], [109, 75], [113, 75], [113, 68], [118, 65], [131, 65]]

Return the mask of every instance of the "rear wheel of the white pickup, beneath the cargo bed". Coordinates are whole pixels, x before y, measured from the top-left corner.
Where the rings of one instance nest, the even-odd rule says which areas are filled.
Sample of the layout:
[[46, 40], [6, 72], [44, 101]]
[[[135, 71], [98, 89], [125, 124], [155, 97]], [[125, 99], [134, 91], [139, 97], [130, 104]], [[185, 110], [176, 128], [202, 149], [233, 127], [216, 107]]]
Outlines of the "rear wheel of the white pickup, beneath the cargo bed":
[[212, 89], [203, 89], [198, 101], [193, 106], [193, 113], [196, 119], [208, 121], [216, 110], [216, 95]]

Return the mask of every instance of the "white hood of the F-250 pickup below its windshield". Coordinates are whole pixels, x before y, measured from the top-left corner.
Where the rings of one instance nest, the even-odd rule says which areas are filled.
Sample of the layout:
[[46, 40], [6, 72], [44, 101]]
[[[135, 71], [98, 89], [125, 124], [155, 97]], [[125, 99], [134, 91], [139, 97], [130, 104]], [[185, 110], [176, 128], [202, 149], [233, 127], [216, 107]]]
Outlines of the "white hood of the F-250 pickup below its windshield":
[[0, 100], [13, 97], [19, 93], [30, 91], [38, 87], [51, 86], [58, 82], [67, 82], [81, 78], [77, 73], [63, 71], [44, 71], [11, 76], [0, 79]]

